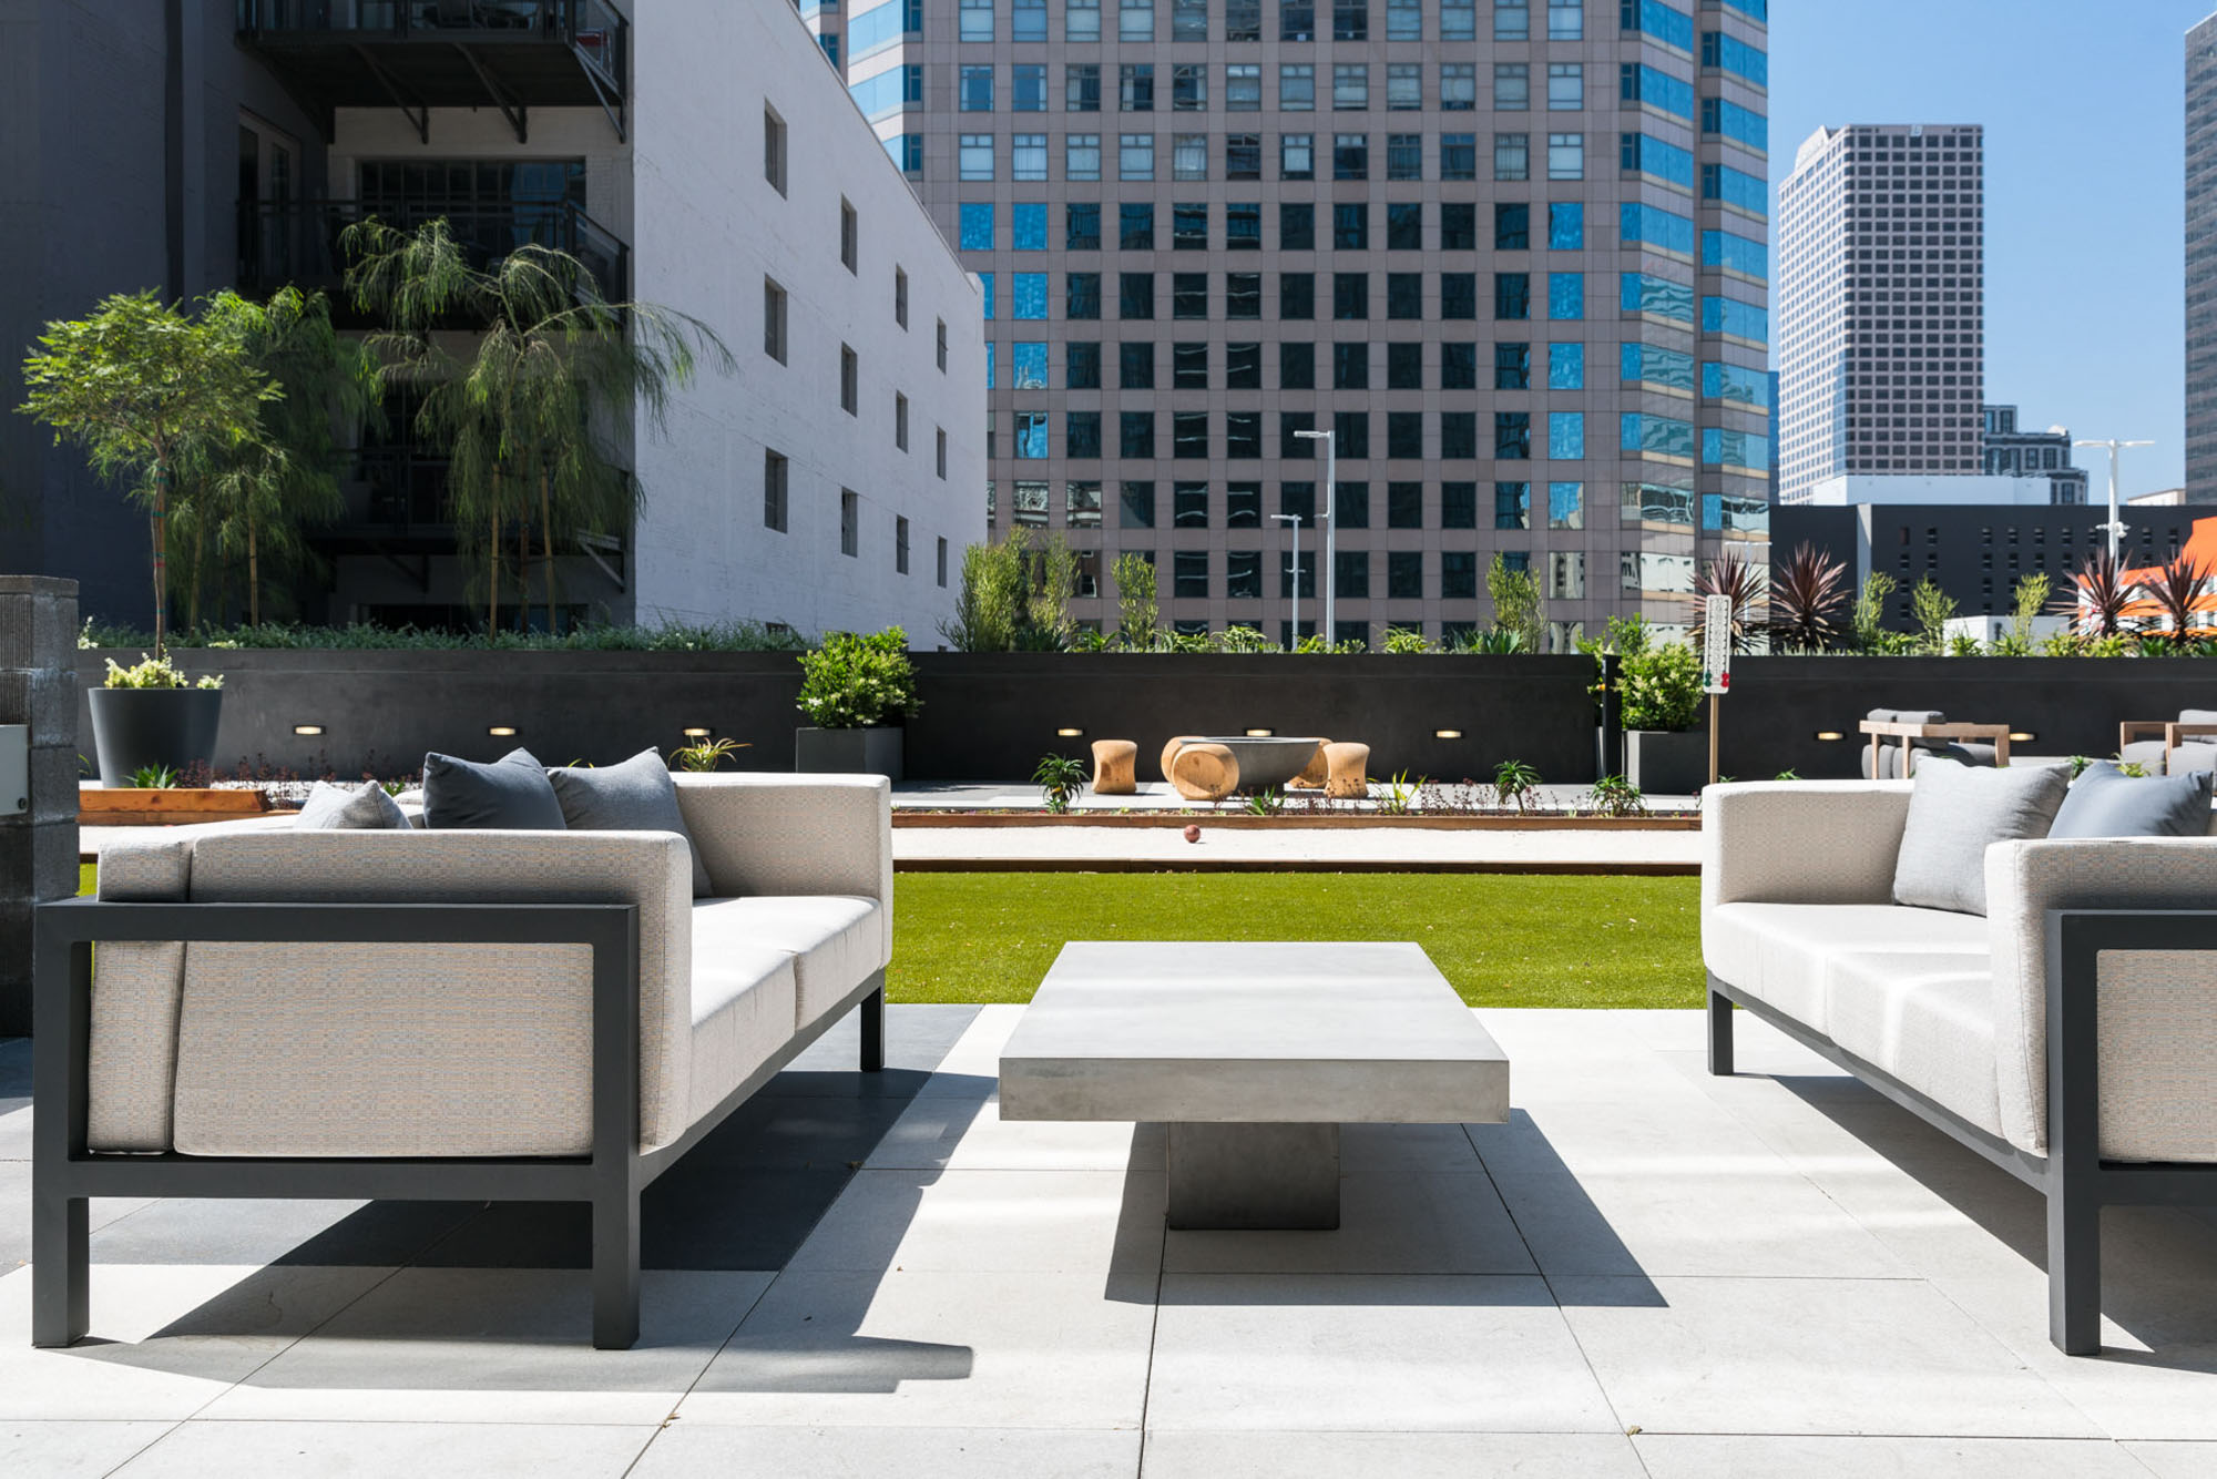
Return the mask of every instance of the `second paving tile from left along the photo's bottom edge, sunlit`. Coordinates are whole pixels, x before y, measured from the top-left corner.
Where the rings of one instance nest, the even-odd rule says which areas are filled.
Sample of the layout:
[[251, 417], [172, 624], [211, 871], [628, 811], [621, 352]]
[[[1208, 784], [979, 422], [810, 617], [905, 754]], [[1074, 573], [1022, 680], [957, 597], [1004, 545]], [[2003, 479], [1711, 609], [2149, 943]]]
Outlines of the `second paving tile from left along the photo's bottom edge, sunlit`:
[[656, 1432], [652, 1424], [188, 1421], [118, 1479], [621, 1479]]

